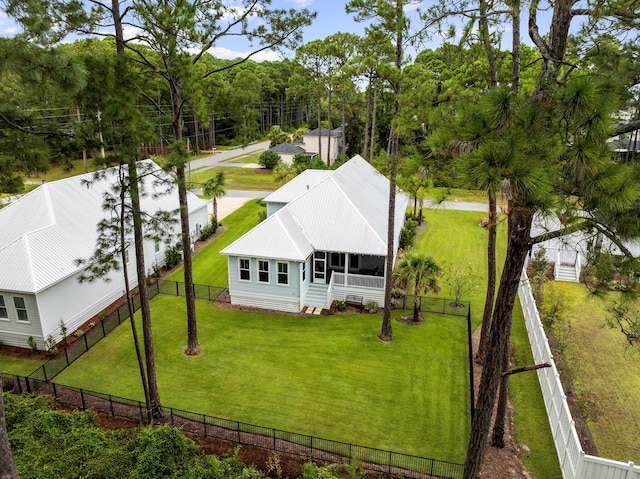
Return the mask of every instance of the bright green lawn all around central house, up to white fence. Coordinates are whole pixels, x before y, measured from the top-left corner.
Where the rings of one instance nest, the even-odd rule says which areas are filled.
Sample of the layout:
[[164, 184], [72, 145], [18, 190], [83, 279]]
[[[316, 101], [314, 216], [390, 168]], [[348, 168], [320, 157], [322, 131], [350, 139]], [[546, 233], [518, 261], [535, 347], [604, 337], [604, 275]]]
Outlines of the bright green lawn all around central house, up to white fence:
[[[225, 218], [229, 230], [194, 257], [195, 283], [227, 284], [226, 258], [218, 252], [257, 224], [259, 208], [250, 202]], [[463, 298], [472, 301], [472, 319], [478, 326], [486, 275], [487, 233], [478, 227], [483, 214], [427, 210], [425, 216], [428, 227], [416, 247], [441, 264], [471, 264], [479, 275], [477, 288]], [[501, 224], [500, 259], [505, 230]], [[168, 279], [180, 281], [181, 275], [179, 270]], [[440, 296], [451, 294], [443, 287]], [[382, 344], [375, 338], [380, 315], [267, 315], [219, 310], [199, 301], [204, 352], [192, 358], [182, 354], [183, 300], [160, 296], [152, 309], [166, 405], [409, 454], [464, 460], [469, 404], [462, 318], [429, 316], [420, 327], [394, 321], [395, 340]], [[530, 364], [517, 308], [513, 343], [517, 364]], [[128, 372], [112, 377], [114, 369]], [[520, 376], [511, 381], [511, 394], [519, 442], [532, 451], [525, 461], [539, 479], [560, 478], [536, 376]], [[129, 328], [118, 328], [57, 381], [141, 398]]]

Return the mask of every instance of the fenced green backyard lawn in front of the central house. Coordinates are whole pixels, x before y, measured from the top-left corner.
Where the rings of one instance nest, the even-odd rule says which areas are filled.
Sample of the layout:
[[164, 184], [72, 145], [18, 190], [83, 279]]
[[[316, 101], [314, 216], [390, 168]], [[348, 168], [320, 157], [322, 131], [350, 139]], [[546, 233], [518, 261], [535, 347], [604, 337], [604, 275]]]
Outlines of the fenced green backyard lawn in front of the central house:
[[[464, 317], [394, 321], [381, 315], [286, 316], [198, 301], [203, 353], [183, 354], [183, 298], [152, 301], [163, 404], [337, 441], [462, 462], [469, 433]], [[396, 315], [400, 314], [396, 312]], [[117, 371], [118, 374], [114, 374]], [[56, 382], [142, 399], [128, 325]]]

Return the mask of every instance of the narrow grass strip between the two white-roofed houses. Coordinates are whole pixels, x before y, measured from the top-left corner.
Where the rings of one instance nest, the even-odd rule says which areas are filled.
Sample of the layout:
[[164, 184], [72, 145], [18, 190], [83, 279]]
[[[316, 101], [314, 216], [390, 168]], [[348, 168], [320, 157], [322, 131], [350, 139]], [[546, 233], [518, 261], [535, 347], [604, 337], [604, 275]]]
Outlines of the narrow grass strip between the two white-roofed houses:
[[[227, 257], [221, 255], [220, 251], [256, 226], [260, 222], [258, 213], [264, 209], [258, 200], [251, 200], [224, 218], [222, 224], [226, 230], [193, 256], [193, 282], [195, 284], [225, 287], [228, 285]], [[184, 269], [180, 266], [165, 279], [183, 282]]]

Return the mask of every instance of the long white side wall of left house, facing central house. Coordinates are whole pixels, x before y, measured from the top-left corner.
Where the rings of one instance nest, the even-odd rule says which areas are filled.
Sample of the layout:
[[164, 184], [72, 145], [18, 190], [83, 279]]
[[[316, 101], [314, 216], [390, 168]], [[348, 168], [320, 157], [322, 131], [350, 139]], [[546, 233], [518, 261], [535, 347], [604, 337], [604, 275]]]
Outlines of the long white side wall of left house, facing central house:
[[[130, 256], [129, 279], [130, 288], [138, 284], [135, 273], [134, 256]], [[62, 340], [60, 320], [67, 327], [67, 335], [73, 334], [89, 318], [106, 309], [110, 304], [124, 295], [124, 278], [122, 270], [113, 271], [110, 281], [96, 280], [91, 283], [78, 281], [79, 275], [66, 278], [59, 283], [38, 293], [37, 301], [41, 311], [42, 336], [51, 335], [56, 342]]]

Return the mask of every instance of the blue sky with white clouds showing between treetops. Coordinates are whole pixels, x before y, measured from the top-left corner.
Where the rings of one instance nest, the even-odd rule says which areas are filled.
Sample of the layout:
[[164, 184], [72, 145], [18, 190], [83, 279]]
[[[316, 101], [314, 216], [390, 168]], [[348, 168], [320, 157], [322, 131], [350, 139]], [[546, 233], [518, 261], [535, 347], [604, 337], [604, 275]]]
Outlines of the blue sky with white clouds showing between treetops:
[[[234, 0], [231, 0], [233, 2]], [[315, 11], [317, 16], [312, 25], [306, 27], [303, 31], [304, 43], [315, 39], [322, 39], [329, 35], [338, 32], [349, 32], [358, 35], [364, 35], [366, 24], [358, 23], [354, 20], [353, 14], [347, 14], [345, 12], [346, 0], [272, 0], [272, 8], [283, 9], [303, 9], [306, 8], [310, 11]], [[422, 10], [428, 8], [434, 4], [435, 0], [424, 0], [419, 4], [412, 4], [405, 10], [405, 13], [412, 20], [413, 24], [418, 23], [417, 9]], [[254, 20], [257, 21], [257, 20]], [[7, 17], [7, 15], [0, 11], [0, 36], [9, 37], [19, 33], [19, 27]], [[523, 34], [526, 35], [526, 26], [524, 26]], [[503, 48], [509, 48], [510, 31], [507, 29], [503, 33]], [[426, 47], [435, 48], [440, 43], [439, 37], [436, 35], [436, 40], [426, 44]], [[69, 41], [71, 41], [69, 39]], [[524, 38], [527, 41], [528, 38]], [[232, 59], [239, 56], [245, 56], [248, 52], [252, 51], [248, 42], [243, 41], [238, 37], [232, 39], [222, 39], [215, 47], [210, 50], [210, 53], [218, 58]], [[285, 52], [285, 56], [291, 58], [295, 52]], [[282, 54], [277, 51], [265, 51], [261, 52], [254, 57], [256, 61], [277, 61], [282, 59]]]

